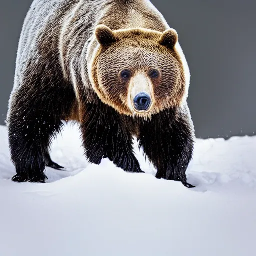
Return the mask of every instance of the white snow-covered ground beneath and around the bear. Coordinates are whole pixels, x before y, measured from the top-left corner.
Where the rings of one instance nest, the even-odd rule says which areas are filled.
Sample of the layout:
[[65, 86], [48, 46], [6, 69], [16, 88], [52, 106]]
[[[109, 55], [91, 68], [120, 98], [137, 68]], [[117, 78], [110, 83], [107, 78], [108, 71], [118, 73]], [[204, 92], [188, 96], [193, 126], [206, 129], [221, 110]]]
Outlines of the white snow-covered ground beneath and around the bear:
[[255, 255], [256, 137], [197, 140], [181, 183], [90, 165], [77, 127], [52, 147], [66, 171], [47, 184], [14, 183], [6, 128], [0, 126], [0, 256]]

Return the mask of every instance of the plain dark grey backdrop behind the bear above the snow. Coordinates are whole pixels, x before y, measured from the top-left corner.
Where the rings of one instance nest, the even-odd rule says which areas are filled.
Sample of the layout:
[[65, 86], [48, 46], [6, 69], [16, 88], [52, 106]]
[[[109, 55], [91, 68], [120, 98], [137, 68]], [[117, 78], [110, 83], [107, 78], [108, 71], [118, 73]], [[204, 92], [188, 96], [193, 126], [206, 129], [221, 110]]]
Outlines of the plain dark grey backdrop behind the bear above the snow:
[[[18, 38], [32, 0], [1, 0], [0, 124], [12, 88]], [[196, 136], [256, 131], [256, 1], [152, 0], [179, 34], [191, 70]]]

